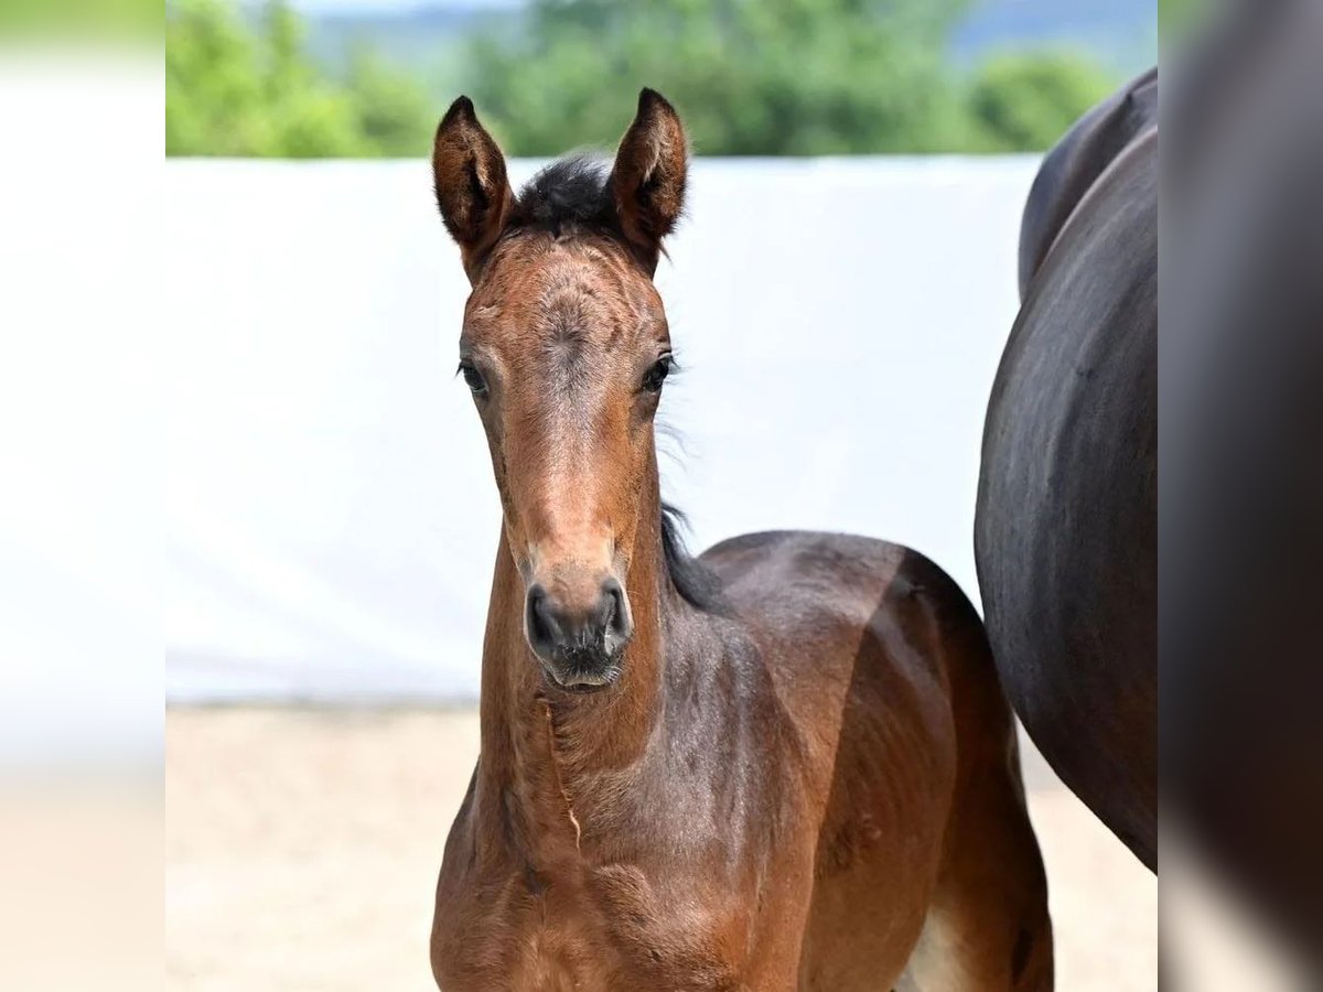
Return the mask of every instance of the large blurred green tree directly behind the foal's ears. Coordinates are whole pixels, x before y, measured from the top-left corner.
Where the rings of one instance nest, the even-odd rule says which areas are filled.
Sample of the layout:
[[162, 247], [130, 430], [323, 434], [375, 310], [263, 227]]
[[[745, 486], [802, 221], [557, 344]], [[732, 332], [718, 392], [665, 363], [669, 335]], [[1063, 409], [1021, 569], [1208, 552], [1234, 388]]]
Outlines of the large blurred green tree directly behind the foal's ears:
[[704, 155], [922, 152], [962, 132], [946, 37], [966, 0], [537, 0], [480, 38], [472, 93], [515, 155], [620, 128], [639, 86]]

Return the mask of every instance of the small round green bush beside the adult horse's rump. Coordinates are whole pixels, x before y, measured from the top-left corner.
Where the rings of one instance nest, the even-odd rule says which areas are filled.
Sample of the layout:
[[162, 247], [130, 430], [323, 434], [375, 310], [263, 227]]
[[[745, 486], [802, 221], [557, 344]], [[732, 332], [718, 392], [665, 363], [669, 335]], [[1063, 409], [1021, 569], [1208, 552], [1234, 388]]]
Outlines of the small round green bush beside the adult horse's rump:
[[1029, 52], [990, 58], [970, 86], [975, 151], [1020, 152], [1052, 147], [1115, 78], [1084, 56]]

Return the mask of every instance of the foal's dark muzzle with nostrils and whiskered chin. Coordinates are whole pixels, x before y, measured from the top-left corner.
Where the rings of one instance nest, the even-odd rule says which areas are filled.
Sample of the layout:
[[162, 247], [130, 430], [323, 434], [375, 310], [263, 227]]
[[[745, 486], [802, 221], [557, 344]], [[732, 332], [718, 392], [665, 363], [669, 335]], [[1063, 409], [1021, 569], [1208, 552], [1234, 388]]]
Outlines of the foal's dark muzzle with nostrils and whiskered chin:
[[561, 688], [610, 685], [620, 675], [620, 652], [634, 634], [628, 597], [607, 577], [595, 597], [578, 599], [556, 595], [540, 582], [531, 585], [524, 600], [528, 645]]

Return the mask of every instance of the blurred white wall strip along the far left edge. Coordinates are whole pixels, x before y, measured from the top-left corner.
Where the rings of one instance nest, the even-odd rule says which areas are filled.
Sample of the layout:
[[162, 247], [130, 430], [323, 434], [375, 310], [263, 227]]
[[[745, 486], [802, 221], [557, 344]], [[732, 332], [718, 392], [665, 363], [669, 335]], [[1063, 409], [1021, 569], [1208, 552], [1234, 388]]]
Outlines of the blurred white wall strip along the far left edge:
[[0, 46], [0, 786], [159, 767], [160, 50]]

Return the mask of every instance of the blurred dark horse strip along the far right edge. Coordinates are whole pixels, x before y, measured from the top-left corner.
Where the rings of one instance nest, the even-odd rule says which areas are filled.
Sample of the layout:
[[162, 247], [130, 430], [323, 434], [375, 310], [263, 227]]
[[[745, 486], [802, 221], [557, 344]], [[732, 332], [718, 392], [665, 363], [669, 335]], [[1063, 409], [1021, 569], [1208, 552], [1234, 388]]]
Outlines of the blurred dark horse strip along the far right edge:
[[1159, 343], [1163, 845], [1217, 869], [1315, 980], [1320, 53], [1319, 4], [1246, 3], [1171, 77]]

